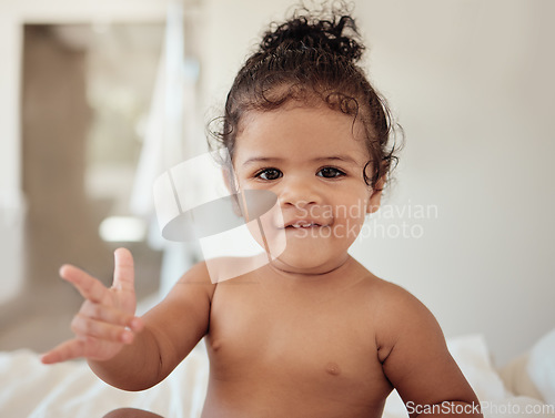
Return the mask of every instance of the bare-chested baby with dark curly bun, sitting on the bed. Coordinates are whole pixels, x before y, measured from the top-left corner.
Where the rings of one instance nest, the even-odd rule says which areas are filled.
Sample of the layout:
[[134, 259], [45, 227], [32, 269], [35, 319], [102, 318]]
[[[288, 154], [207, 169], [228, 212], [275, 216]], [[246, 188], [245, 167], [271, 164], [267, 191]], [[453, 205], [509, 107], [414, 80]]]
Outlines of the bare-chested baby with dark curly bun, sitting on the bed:
[[347, 254], [395, 161], [389, 110], [357, 65], [363, 49], [349, 13], [296, 12], [265, 33], [228, 95], [219, 140], [230, 187], [276, 195], [282, 221], [270, 216], [264, 232], [270, 244], [285, 237], [278, 257], [220, 283], [200, 263], [142, 317], [127, 249], [111, 288], [65, 265], [85, 302], [77, 337], [42, 361], [85, 357], [108, 384], [142, 390], [205, 337], [203, 418], [380, 417], [393, 389], [411, 417], [481, 416], [434, 316]]

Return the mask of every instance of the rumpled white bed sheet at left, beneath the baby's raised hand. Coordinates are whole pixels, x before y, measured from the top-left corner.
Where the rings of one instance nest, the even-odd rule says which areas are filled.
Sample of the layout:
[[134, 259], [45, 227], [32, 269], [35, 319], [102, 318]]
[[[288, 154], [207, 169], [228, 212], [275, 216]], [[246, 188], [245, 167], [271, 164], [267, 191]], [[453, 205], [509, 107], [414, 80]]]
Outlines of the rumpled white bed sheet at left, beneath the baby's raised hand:
[[44, 366], [30, 350], [0, 353], [1, 418], [100, 418], [133, 407], [170, 418], [200, 417], [208, 359], [195, 348], [169, 378], [140, 392], [115, 389], [97, 378], [85, 361]]

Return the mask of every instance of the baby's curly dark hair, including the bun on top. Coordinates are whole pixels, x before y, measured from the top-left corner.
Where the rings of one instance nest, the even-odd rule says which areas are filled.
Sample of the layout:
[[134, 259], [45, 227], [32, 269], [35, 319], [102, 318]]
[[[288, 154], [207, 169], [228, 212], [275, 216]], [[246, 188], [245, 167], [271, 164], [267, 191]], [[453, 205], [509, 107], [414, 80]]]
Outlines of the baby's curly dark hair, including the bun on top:
[[[331, 109], [363, 122], [371, 160], [364, 181], [383, 185], [396, 165], [390, 109], [357, 64], [365, 47], [344, 3], [319, 12], [301, 7], [284, 23], [271, 23], [259, 49], [245, 61], [228, 94], [216, 143], [233, 159], [241, 121], [249, 111], [271, 111], [289, 101]], [[395, 125], [397, 126], [397, 125]]]

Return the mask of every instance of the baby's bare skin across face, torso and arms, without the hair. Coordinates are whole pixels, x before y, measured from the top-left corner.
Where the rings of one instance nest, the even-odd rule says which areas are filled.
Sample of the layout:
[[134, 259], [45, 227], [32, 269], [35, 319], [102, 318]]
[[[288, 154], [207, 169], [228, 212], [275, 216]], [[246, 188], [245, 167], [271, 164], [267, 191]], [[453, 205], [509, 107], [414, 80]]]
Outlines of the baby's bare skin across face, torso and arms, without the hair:
[[[367, 155], [357, 135], [350, 116], [329, 109], [255, 114], [234, 169], [240, 187], [278, 195], [283, 224], [266, 220], [264, 231], [270, 244], [284, 233], [285, 251], [216, 284], [198, 264], [141, 318], [128, 251], [115, 253], [110, 289], [64, 266], [62, 277], [87, 300], [73, 322], [77, 338], [42, 361], [85, 357], [108, 384], [142, 390], [206, 337], [203, 418], [380, 417], [393, 388], [407, 407], [477, 404], [433, 315], [347, 254], [356, 234], [342, 232], [359, 231], [381, 196], [363, 181]], [[342, 204], [362, 211], [342, 213]]]

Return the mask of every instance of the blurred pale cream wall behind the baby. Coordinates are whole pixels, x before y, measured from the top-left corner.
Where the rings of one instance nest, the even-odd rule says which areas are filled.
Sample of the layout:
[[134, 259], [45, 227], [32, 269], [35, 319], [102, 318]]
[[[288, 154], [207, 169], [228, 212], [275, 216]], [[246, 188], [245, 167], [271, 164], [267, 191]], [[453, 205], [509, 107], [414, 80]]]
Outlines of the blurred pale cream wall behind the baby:
[[[364, 64], [404, 128], [406, 142], [384, 206], [369, 220], [352, 253], [379, 276], [420, 297], [447, 337], [484, 334], [502, 365], [555, 325], [555, 4], [352, 3], [369, 45]], [[219, 115], [261, 30], [292, 4], [194, 2], [199, 124]], [[163, 24], [167, 4], [2, 0], [0, 8], [0, 281], [8, 299], [21, 292], [21, 254], [30, 247], [17, 228], [26, 197], [23, 23]], [[150, 268], [155, 271], [160, 259], [152, 254]], [[97, 258], [102, 258], [97, 267], [93, 261], [85, 263], [102, 272], [107, 257]], [[176, 278], [180, 273], [173, 274]]]

